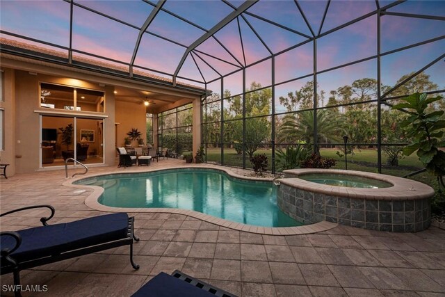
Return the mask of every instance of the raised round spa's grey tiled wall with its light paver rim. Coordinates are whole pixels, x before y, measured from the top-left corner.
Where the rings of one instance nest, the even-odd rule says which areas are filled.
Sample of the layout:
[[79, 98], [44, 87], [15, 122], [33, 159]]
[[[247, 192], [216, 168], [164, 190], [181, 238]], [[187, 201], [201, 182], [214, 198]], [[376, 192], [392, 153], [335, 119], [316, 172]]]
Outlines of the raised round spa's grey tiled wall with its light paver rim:
[[[430, 226], [428, 198], [434, 190], [412, 179], [371, 172], [333, 169], [293, 169], [279, 179], [278, 207], [302, 223], [327, 220], [369, 230], [419, 232]], [[348, 188], [316, 184], [298, 175], [334, 173], [380, 179], [389, 188]]]

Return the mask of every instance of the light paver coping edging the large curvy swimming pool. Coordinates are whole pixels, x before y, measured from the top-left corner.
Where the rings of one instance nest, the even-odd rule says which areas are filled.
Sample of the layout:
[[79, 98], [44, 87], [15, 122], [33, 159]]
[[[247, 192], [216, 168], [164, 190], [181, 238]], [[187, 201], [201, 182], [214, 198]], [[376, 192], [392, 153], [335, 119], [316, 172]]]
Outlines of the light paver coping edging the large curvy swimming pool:
[[[262, 181], [262, 182], [272, 182], [272, 178], [258, 178], [258, 177], [248, 177], [244, 175], [239, 175], [230, 168], [225, 168], [223, 166], [216, 166], [213, 164], [202, 164], [202, 165], [193, 165], [193, 166], [166, 166], [165, 168], [155, 168], [147, 170], [138, 171], [137, 173], [143, 172], [155, 172], [161, 170], [170, 170], [170, 169], [184, 169], [184, 168], [202, 168], [202, 169], [213, 169], [220, 170], [226, 172], [231, 177], [236, 177], [238, 179], [248, 179], [252, 181]], [[182, 214], [184, 216], [191, 216], [193, 218], [197, 218], [199, 220], [203, 220], [204, 222], [212, 223], [215, 225], [219, 225], [220, 227], [227, 227], [232, 230], [250, 232], [255, 234], [268, 234], [268, 235], [300, 235], [300, 234], [312, 234], [317, 232], [324, 232], [330, 230], [334, 227], [337, 227], [338, 224], [330, 223], [327, 221], [315, 223], [312, 225], [303, 225], [296, 227], [261, 227], [255, 225], [247, 225], [243, 223], [236, 223], [232, 220], [225, 220], [223, 218], [218, 218], [216, 216], [210, 216], [208, 214], [203, 214], [199, 211], [193, 211], [188, 209], [171, 209], [171, 208], [130, 208], [130, 207], [107, 207], [105, 205], [100, 204], [97, 200], [100, 195], [104, 193], [104, 188], [100, 186], [86, 186], [81, 184], [73, 184], [73, 182], [78, 181], [79, 179], [86, 179], [91, 177], [98, 177], [103, 175], [120, 175], [125, 173], [136, 173], [136, 172], [109, 172], [109, 173], [101, 173], [95, 175], [88, 175], [88, 177], [78, 177], [76, 179], [70, 179], [66, 182], [63, 182], [63, 186], [70, 187], [85, 187], [92, 190], [92, 193], [88, 195], [85, 199], [85, 204], [87, 207], [91, 209], [95, 209], [97, 211], [106, 211], [106, 212], [131, 212], [131, 213], [168, 213], [168, 214]]]

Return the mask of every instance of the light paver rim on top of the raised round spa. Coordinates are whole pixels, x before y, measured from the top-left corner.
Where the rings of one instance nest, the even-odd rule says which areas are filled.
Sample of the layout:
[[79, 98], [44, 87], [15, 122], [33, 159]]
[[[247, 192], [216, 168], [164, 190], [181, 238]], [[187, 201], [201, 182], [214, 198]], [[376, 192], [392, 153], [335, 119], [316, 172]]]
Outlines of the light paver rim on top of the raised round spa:
[[[389, 188], [350, 188], [346, 186], [330, 186], [325, 184], [316, 184], [305, 179], [298, 178], [298, 175], [307, 173], [339, 173], [343, 175], [355, 175], [378, 179], [382, 182], [389, 182], [393, 186]], [[338, 197], [363, 199], [363, 200], [419, 200], [432, 197], [434, 189], [421, 182], [403, 177], [392, 175], [382, 175], [381, 173], [341, 170], [341, 169], [291, 169], [284, 170], [286, 178], [280, 179], [282, 184], [293, 186], [305, 191], [334, 195]], [[292, 176], [292, 177], [290, 177]]]

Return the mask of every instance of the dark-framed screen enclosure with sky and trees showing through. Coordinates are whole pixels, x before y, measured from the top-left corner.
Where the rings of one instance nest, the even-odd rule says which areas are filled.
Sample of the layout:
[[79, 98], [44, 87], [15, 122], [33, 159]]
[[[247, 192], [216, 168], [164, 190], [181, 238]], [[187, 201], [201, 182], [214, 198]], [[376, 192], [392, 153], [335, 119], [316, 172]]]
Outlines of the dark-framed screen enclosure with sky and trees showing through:
[[[199, 93], [205, 161], [224, 166], [266, 154], [276, 172], [280, 152], [305, 144], [335, 168], [346, 154], [349, 169], [407, 175], [422, 166], [401, 159], [407, 113], [391, 106], [445, 90], [444, 1], [0, 5], [3, 54]], [[178, 118], [190, 107], [159, 110], [161, 145], [167, 134], [172, 149], [190, 142], [191, 122]]]

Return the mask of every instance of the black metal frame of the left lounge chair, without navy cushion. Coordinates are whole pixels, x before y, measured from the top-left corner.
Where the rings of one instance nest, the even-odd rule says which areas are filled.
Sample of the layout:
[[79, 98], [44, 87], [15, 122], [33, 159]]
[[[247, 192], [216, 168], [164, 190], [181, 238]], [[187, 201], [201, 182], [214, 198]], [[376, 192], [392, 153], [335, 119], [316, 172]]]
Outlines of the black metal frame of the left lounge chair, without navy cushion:
[[[24, 211], [28, 209], [38, 209], [38, 208], [48, 208], [51, 210], [51, 215], [49, 217], [42, 217], [40, 218], [40, 222], [44, 226], [47, 226], [47, 221], [50, 220], [54, 214], [56, 213], [56, 210], [51, 205], [34, 205], [31, 207], [22, 207], [19, 209], [14, 209], [12, 211], [8, 211], [4, 214], [0, 214], [1, 216], [6, 216], [8, 214], [13, 214], [18, 211]], [[12, 250], [8, 249], [1, 249], [1, 271], [0, 274], [7, 274], [7, 273], [13, 273], [14, 274], [14, 284], [17, 290], [19, 290], [20, 286], [20, 271], [24, 269], [33, 268], [36, 266], [41, 266], [45, 264], [51, 264], [54, 262], [63, 261], [65, 259], [71, 259], [74, 257], [79, 257], [83, 255], [88, 255], [92, 252], [99, 252], [101, 250], [108, 250], [110, 248], [117, 248], [119, 246], [130, 246], [130, 263], [131, 266], [133, 266], [134, 269], [139, 269], [139, 265], [135, 264], [133, 262], [133, 240], [139, 241], [139, 239], [134, 235], [134, 217], [129, 217], [128, 220], [128, 230], [127, 235], [122, 238], [115, 241], [110, 241], [106, 243], [100, 243], [95, 246], [86, 246], [84, 248], [78, 248], [76, 250], [68, 250], [66, 252], [62, 252], [60, 254], [51, 255], [49, 257], [39, 257], [36, 255], [35, 259], [30, 259], [28, 261], [24, 262], [16, 262], [15, 259], [11, 258], [9, 255], [13, 253], [17, 248], [19, 248], [20, 244], [22, 243], [22, 236], [20, 236], [17, 232], [0, 232], [0, 236], [12, 236], [16, 240], [16, 245]], [[21, 296], [20, 291], [15, 291], [15, 296]]]

